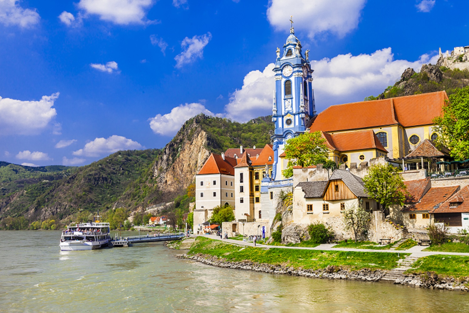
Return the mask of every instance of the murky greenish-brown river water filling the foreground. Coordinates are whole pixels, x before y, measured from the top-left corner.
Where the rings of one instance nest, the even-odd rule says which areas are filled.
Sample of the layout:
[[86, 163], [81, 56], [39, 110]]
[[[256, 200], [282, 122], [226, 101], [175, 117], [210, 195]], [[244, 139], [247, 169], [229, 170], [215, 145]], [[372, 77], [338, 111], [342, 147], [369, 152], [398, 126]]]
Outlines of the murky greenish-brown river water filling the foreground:
[[161, 243], [61, 252], [59, 238], [0, 231], [1, 313], [469, 311], [468, 293], [211, 267]]

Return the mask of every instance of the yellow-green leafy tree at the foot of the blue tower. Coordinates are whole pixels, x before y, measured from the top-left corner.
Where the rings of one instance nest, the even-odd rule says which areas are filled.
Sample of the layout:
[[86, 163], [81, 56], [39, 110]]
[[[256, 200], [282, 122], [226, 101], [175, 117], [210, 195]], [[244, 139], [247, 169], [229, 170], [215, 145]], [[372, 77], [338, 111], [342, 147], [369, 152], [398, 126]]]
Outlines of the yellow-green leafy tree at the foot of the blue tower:
[[288, 160], [287, 168], [282, 171], [283, 176], [293, 176], [293, 167], [310, 166], [325, 163], [329, 150], [325, 145], [325, 139], [320, 131], [304, 133], [300, 136], [290, 138], [284, 148], [285, 156]]

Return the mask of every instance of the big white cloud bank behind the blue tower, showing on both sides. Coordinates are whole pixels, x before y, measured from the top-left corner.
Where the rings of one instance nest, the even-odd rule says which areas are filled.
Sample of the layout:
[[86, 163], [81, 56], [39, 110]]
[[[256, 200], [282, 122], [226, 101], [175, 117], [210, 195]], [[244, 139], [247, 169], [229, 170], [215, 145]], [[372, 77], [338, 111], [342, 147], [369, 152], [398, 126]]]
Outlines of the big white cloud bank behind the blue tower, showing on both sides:
[[[438, 54], [423, 54], [413, 62], [394, 60], [391, 48], [385, 48], [371, 54], [353, 56], [348, 53], [311, 61], [317, 111], [333, 104], [363, 101], [366, 96], [378, 95], [399, 80], [405, 69], [410, 67], [419, 71], [422, 64], [435, 64], [437, 60]], [[263, 72], [251, 71], [244, 77], [242, 88], [231, 95], [225, 106], [228, 118], [246, 122], [272, 114], [273, 67], [271, 63]]]

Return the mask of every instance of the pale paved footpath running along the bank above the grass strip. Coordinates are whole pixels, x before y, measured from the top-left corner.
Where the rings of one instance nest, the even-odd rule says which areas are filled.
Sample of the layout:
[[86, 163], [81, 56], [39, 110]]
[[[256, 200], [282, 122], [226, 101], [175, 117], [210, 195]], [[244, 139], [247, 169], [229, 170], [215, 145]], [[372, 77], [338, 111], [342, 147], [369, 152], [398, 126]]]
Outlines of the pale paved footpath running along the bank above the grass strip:
[[[253, 247], [254, 243], [249, 241], [234, 240], [234, 239], [221, 239], [219, 236], [215, 235], [194, 235], [194, 237], [203, 236], [211, 239], [216, 239], [220, 241], [227, 242], [229, 244], [238, 244], [246, 245]], [[423, 251], [426, 246], [416, 245], [408, 250], [372, 250], [372, 249], [355, 249], [355, 248], [333, 248], [335, 244], [320, 244], [317, 247], [287, 247], [285, 245], [268, 245], [256, 244], [256, 247], [259, 248], [280, 248], [280, 249], [304, 249], [304, 250], [325, 250], [325, 251], [356, 251], [356, 252], [387, 252], [387, 253], [411, 253], [411, 257], [421, 258], [428, 255], [443, 254], [443, 255], [460, 255], [460, 256], [469, 256], [469, 253], [461, 252], [438, 252], [438, 251]]]

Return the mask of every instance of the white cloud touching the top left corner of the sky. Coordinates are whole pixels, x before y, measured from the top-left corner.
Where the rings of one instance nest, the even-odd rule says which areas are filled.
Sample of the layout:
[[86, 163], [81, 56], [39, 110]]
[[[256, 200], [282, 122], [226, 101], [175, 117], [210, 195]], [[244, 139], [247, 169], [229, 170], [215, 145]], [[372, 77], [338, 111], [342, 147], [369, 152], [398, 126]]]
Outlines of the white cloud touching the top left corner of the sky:
[[0, 23], [28, 28], [39, 23], [40, 16], [36, 9], [25, 9], [19, 0], [0, 0]]

